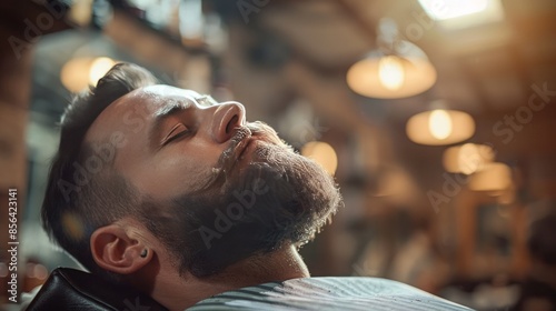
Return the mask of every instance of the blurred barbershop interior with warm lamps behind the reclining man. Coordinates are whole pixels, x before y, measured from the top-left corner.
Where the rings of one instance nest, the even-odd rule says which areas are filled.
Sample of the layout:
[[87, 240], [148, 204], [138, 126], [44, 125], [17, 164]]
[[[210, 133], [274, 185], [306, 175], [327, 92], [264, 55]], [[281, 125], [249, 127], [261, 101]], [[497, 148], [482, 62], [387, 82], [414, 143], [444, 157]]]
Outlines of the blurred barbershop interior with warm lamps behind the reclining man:
[[0, 8], [1, 302], [8, 189], [20, 289], [77, 267], [39, 220], [57, 122], [72, 92], [127, 61], [242, 102], [335, 175], [346, 205], [302, 249], [312, 275], [399, 280], [479, 310], [555, 310], [543, 309], [556, 308], [555, 1]]

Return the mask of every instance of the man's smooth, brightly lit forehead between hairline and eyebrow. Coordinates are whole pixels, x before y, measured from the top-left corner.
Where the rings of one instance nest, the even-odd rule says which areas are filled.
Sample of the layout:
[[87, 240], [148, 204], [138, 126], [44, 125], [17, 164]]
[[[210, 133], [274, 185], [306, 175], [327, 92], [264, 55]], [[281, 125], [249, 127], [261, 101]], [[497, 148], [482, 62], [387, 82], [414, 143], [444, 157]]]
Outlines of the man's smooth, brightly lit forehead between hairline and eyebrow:
[[109, 104], [87, 131], [85, 141], [106, 140], [115, 132], [133, 133], [172, 102], [193, 103], [202, 96], [170, 86], [149, 86], [133, 90]]

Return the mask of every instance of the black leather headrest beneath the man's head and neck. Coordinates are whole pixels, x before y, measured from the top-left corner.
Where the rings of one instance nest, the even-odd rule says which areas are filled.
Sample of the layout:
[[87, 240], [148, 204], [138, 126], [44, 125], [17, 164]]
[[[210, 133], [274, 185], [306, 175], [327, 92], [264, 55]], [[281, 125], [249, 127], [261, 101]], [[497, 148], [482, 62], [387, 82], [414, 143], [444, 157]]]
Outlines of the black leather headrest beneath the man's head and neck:
[[27, 310], [168, 310], [131, 288], [105, 281], [91, 273], [58, 268]]

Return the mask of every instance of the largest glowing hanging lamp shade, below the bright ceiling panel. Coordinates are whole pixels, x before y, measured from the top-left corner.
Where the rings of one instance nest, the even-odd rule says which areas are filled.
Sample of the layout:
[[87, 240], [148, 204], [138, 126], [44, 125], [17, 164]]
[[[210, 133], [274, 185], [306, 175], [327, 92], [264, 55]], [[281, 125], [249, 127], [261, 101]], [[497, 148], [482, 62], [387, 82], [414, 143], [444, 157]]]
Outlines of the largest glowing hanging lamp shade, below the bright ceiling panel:
[[367, 54], [349, 68], [347, 83], [361, 96], [381, 99], [421, 93], [436, 82], [436, 69], [425, 52], [411, 42], [397, 40], [388, 51]]

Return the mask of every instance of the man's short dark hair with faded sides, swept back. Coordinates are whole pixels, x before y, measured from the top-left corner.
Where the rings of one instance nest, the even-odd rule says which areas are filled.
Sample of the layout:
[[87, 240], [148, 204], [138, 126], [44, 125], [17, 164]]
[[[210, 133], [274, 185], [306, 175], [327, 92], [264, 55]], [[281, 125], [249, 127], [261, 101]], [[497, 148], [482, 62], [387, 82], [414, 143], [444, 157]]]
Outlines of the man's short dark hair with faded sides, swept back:
[[111, 161], [97, 165], [93, 172], [86, 169], [90, 164], [88, 160], [98, 159], [98, 154], [90, 143], [85, 142], [85, 137], [110, 103], [136, 89], [156, 83], [157, 79], [146, 69], [118, 63], [96, 88], [77, 94], [62, 116], [60, 146], [42, 203], [42, 225], [56, 243], [91, 272], [110, 274], [92, 259], [91, 233], [129, 214], [136, 197], [135, 189], [111, 168]]

